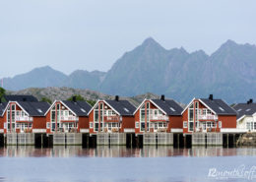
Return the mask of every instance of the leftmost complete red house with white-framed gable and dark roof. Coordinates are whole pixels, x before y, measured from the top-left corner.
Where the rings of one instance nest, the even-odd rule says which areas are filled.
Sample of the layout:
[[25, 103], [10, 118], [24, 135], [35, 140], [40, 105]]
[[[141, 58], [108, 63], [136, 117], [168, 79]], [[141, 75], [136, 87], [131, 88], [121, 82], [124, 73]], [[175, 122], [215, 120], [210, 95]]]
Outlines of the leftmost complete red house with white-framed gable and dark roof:
[[45, 133], [44, 113], [48, 108], [42, 101], [9, 101], [2, 114], [4, 133]]

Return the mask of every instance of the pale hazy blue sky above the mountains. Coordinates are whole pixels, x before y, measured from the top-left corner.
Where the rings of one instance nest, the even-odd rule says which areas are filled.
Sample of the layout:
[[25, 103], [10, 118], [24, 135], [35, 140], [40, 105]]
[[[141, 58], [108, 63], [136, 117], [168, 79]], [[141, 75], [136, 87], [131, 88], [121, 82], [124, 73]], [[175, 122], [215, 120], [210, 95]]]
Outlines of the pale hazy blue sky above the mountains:
[[0, 0], [0, 78], [45, 65], [107, 71], [149, 36], [209, 54], [226, 39], [256, 44], [256, 1]]

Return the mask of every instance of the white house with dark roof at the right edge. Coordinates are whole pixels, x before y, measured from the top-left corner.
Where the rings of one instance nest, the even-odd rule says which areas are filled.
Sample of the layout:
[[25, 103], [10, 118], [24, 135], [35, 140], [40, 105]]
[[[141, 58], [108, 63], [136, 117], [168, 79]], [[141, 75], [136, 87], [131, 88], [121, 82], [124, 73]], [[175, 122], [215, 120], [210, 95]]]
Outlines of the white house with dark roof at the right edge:
[[253, 99], [247, 103], [238, 103], [233, 106], [237, 111], [237, 129], [244, 132], [256, 132], [256, 103]]

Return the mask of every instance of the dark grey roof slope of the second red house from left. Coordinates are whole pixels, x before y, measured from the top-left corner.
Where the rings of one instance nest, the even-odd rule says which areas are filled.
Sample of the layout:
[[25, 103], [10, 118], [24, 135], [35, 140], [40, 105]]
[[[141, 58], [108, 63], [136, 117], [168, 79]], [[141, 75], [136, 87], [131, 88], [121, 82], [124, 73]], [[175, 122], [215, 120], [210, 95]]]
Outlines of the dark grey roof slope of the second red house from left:
[[87, 101], [69, 101], [63, 100], [77, 116], [88, 116], [89, 111], [92, 109], [92, 106]]

